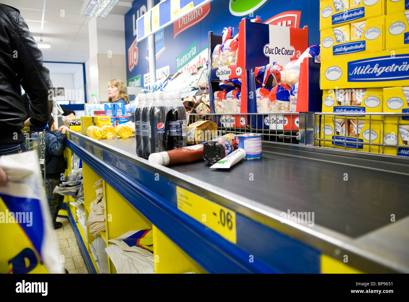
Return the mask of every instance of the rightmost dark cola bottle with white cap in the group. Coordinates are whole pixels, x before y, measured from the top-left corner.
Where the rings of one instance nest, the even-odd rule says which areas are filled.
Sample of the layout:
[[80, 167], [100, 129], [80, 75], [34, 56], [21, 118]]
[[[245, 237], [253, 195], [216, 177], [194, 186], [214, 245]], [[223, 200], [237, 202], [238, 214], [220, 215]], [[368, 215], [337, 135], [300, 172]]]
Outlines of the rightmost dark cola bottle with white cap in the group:
[[172, 92], [171, 106], [166, 113], [168, 130], [166, 150], [187, 146], [187, 113], [180, 98], [180, 92]]

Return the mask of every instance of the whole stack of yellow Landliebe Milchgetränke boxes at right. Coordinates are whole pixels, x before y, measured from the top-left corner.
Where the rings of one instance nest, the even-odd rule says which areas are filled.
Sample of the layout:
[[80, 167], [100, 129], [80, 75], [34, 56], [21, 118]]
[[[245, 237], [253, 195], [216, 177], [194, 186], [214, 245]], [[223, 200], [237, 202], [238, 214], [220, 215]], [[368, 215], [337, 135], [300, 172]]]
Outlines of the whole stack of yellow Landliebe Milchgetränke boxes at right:
[[[326, 116], [320, 138], [335, 148], [409, 156], [409, 117], [365, 113], [409, 113], [409, 2], [320, 0], [322, 111], [362, 113]], [[325, 124], [324, 124], [325, 122]], [[382, 123], [385, 123], [383, 126]], [[398, 129], [399, 123], [399, 129]], [[390, 146], [393, 145], [393, 146]], [[325, 142], [334, 146], [334, 142]]]

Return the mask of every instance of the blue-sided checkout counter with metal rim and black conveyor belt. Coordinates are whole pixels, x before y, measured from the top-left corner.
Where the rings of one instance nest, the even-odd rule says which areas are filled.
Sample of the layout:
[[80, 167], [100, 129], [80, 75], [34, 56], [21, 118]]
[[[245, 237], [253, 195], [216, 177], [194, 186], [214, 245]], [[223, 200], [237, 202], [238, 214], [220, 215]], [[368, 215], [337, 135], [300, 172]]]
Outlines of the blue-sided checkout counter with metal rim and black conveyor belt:
[[[67, 147], [209, 273], [319, 273], [326, 255], [357, 271], [409, 272], [402, 159], [266, 143], [261, 160], [215, 171], [205, 162], [153, 167], [135, 155], [132, 138], [95, 141], [70, 131]], [[178, 210], [177, 187], [233, 210], [236, 243]], [[283, 220], [288, 210], [314, 212], [314, 225]]]

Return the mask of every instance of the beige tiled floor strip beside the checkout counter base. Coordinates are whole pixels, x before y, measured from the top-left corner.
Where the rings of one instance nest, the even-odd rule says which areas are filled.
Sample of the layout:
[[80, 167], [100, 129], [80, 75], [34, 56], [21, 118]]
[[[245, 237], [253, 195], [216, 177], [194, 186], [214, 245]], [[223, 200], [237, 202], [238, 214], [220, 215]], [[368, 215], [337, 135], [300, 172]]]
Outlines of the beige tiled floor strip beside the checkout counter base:
[[57, 217], [57, 221], [61, 222], [63, 226], [54, 230], [53, 235], [59, 248], [58, 252], [64, 256], [62, 257], [63, 266], [70, 274], [88, 274], [70, 221], [62, 217]]

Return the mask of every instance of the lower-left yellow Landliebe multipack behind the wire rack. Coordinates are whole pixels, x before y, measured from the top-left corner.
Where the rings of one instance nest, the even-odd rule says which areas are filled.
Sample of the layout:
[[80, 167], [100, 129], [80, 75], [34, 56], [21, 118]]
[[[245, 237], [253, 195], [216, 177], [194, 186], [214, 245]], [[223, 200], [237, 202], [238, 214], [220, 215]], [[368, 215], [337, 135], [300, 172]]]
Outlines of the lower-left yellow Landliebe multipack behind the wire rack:
[[[362, 144], [362, 142], [379, 144], [381, 133], [382, 133], [382, 122], [372, 121], [371, 131], [369, 131], [369, 121], [366, 120], [364, 124], [360, 123], [356, 125], [355, 133], [350, 132], [349, 119], [335, 119], [325, 118], [325, 125], [321, 122], [319, 138], [326, 140], [335, 140], [335, 149], [346, 149], [355, 151], [364, 151], [371, 153], [379, 153], [379, 146], [371, 145], [371, 150], [369, 151], [369, 145]], [[351, 121], [355, 121], [351, 119]], [[334, 131], [335, 124], [335, 131]], [[359, 133], [358, 138], [356, 137], [356, 132]], [[321, 145], [323, 141], [321, 141]], [[326, 141], [325, 146], [333, 147], [334, 142]]]

